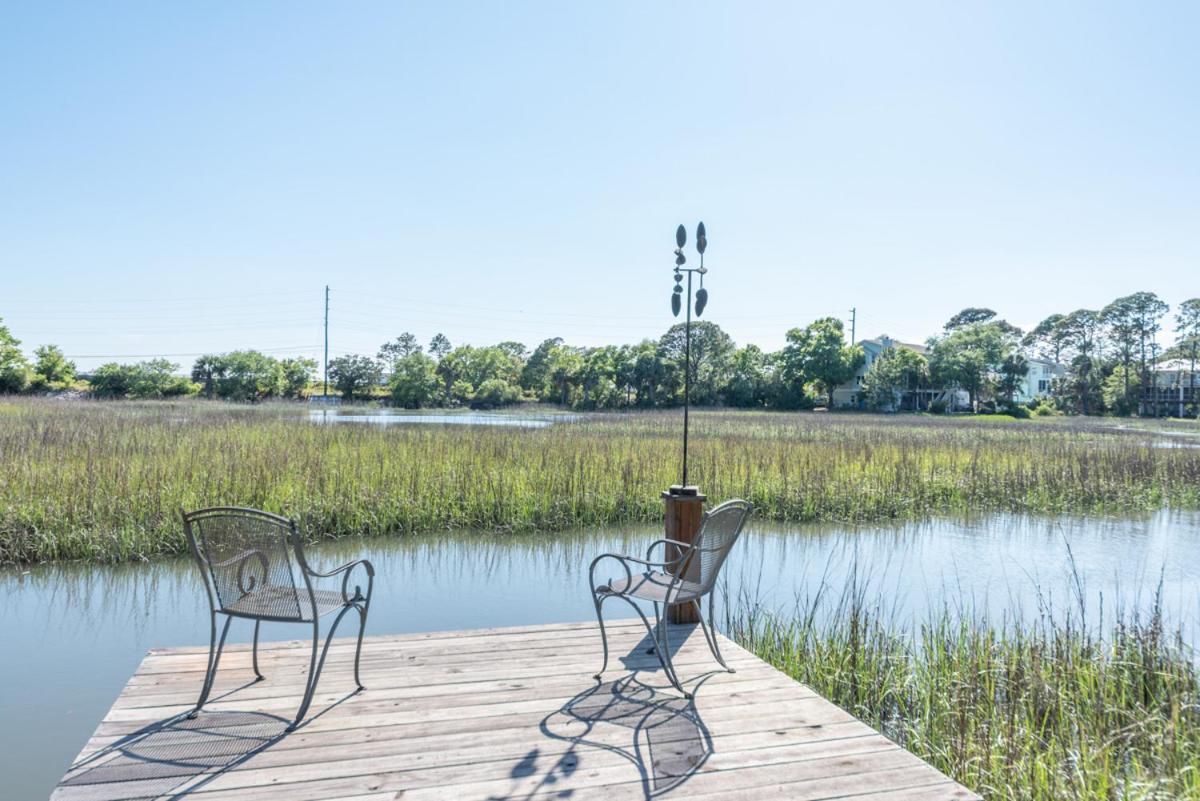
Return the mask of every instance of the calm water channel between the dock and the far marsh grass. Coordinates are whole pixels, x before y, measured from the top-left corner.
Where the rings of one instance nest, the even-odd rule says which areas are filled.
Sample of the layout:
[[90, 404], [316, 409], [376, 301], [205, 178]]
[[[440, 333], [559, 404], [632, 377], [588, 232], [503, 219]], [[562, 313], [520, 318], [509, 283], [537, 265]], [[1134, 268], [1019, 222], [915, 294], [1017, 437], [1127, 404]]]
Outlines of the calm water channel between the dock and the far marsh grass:
[[[313, 561], [331, 566], [366, 555], [374, 562], [368, 633], [587, 620], [590, 559], [605, 550], [641, 553], [658, 534], [642, 526], [352, 541], [316, 548]], [[1082, 597], [1096, 622], [1102, 606], [1105, 614], [1120, 604], [1148, 607], [1160, 583], [1169, 618], [1196, 642], [1200, 514], [1000, 516], [858, 529], [760, 523], [738, 543], [726, 577], [727, 595], [781, 612], [798, 597], [836, 596], [857, 580], [888, 598], [901, 621], [946, 603], [1009, 618], [1046, 608], [1064, 614]], [[251, 630], [235, 626], [230, 639], [246, 642]], [[2, 795], [37, 799], [62, 775], [148, 648], [206, 643], [209, 630], [196, 568], [162, 561], [0, 572], [0, 633]], [[264, 626], [265, 639], [301, 633], [296, 626]]]

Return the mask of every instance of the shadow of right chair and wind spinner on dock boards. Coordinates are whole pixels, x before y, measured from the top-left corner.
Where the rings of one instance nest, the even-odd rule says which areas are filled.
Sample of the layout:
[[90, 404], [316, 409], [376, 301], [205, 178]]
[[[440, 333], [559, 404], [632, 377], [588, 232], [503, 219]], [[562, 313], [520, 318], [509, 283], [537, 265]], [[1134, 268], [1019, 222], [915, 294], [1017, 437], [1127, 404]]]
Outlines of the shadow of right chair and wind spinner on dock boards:
[[[676, 631], [679, 627], [673, 627]], [[672, 655], [686, 634], [671, 643]], [[545, 718], [544, 736], [569, 743], [565, 753], [542, 765], [541, 748], [532, 748], [510, 770], [514, 782], [536, 776], [536, 783], [522, 796], [554, 794], [554, 789], [586, 767], [589, 751], [616, 754], [637, 770], [647, 800], [660, 797], [686, 782], [713, 753], [708, 727], [696, 711], [694, 699], [680, 698], [671, 687], [641, 681], [638, 671], [662, 671], [658, 657], [648, 654], [649, 636], [635, 645], [622, 663], [632, 671], [613, 681], [595, 682]], [[712, 676], [712, 670], [689, 681], [692, 694]], [[564, 788], [557, 797], [570, 799], [575, 790]], [[504, 794], [511, 799], [514, 794]]]

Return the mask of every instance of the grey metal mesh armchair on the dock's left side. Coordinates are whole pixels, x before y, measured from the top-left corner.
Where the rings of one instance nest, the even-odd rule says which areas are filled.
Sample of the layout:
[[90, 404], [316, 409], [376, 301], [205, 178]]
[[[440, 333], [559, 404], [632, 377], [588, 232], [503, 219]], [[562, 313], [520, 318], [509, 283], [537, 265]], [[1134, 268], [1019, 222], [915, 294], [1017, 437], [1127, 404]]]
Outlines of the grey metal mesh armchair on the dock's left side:
[[[312, 695], [325, 666], [329, 644], [350, 609], [359, 613], [359, 642], [354, 651], [354, 682], [364, 689], [359, 679], [359, 657], [362, 654], [362, 632], [371, 608], [371, 590], [374, 586], [374, 567], [366, 559], [359, 559], [329, 572], [319, 572], [308, 566], [300, 543], [300, 531], [295, 520], [252, 508], [218, 506], [196, 512], [184, 512], [184, 531], [192, 555], [200, 566], [204, 589], [211, 609], [212, 636], [209, 642], [209, 666], [204, 674], [200, 699], [187, 717], [200, 713], [212, 691], [212, 681], [221, 662], [229, 624], [234, 618], [254, 621], [253, 664], [256, 681], [263, 680], [258, 669], [258, 630], [264, 620], [274, 622], [307, 624], [312, 626], [312, 657], [308, 663], [308, 680], [304, 701], [295, 719], [288, 727], [295, 729], [304, 719], [312, 703]], [[354, 585], [349, 591], [350, 576], [355, 567], [362, 567], [367, 578], [367, 591]], [[342, 577], [341, 591], [318, 590], [313, 579]], [[300, 582], [296, 578], [300, 578]], [[334, 625], [325, 637], [325, 648], [317, 660], [320, 640], [320, 619], [337, 613]], [[226, 615], [224, 627], [217, 638], [217, 615]]]

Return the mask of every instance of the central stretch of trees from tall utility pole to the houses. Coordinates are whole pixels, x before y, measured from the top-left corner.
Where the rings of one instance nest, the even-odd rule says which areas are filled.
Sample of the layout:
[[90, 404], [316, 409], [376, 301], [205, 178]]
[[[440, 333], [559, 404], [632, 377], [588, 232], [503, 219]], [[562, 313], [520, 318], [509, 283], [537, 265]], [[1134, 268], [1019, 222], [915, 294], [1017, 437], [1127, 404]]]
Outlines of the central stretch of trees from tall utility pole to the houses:
[[[522, 401], [572, 409], [670, 406], [682, 402], [685, 324], [659, 339], [631, 345], [580, 348], [560, 337], [532, 351], [520, 342], [452, 347], [437, 335], [422, 347], [402, 333], [374, 357], [340, 356], [329, 362], [331, 384], [343, 397], [384, 389], [397, 406], [503, 406]], [[787, 333], [774, 354], [738, 348], [713, 323], [691, 329], [691, 392], [701, 405], [802, 409], [828, 397], [862, 363], [846, 344], [839, 320], [828, 318]]]

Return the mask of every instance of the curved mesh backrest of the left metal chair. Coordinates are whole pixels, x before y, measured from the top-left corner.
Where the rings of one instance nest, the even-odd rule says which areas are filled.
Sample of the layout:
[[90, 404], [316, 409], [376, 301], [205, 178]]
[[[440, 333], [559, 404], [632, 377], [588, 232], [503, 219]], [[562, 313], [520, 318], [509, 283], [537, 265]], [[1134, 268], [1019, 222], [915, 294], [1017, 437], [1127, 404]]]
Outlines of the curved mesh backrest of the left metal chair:
[[200, 565], [214, 610], [301, 620], [311, 604], [296, 591], [293, 558], [299, 532], [286, 517], [218, 506], [184, 514], [192, 555]]

